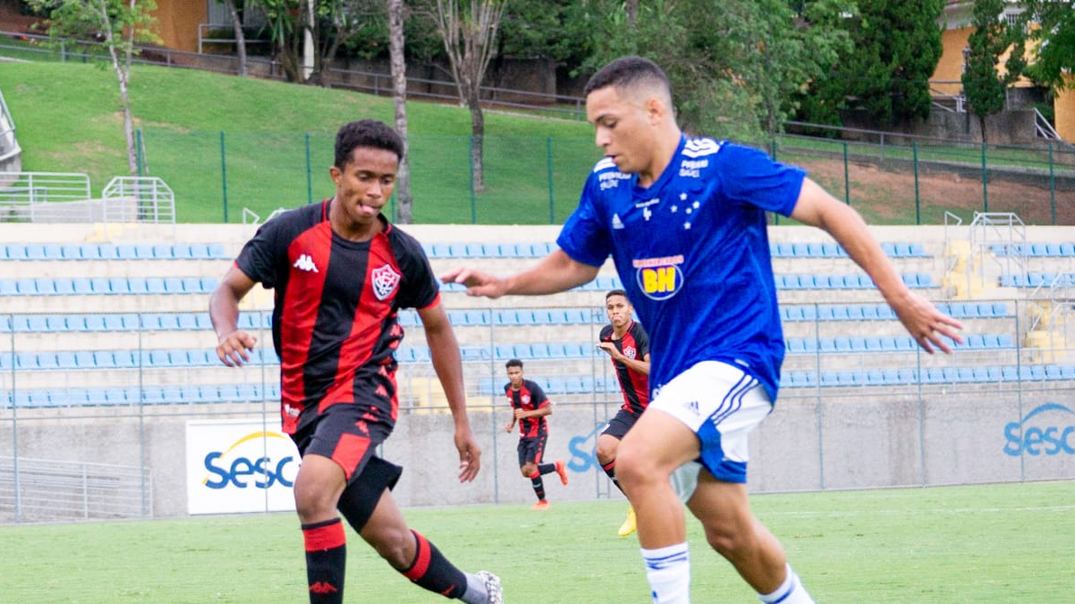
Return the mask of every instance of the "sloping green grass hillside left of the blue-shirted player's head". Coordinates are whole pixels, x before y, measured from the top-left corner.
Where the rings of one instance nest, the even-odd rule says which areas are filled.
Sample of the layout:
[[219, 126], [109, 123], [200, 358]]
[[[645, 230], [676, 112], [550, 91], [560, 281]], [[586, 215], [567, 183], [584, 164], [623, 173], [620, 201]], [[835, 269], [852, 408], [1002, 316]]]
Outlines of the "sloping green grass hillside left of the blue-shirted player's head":
[[[111, 69], [85, 63], [0, 63], [26, 172], [87, 173], [94, 191], [127, 174], [118, 88]], [[207, 72], [135, 65], [135, 128], [143, 171], [175, 192], [180, 222], [264, 218], [332, 194], [328, 166], [340, 124], [391, 122], [392, 102]], [[584, 121], [486, 112], [486, 190], [470, 187], [470, 114], [407, 104], [416, 222], [559, 222], [599, 150]], [[550, 212], [551, 206], [551, 212]]]

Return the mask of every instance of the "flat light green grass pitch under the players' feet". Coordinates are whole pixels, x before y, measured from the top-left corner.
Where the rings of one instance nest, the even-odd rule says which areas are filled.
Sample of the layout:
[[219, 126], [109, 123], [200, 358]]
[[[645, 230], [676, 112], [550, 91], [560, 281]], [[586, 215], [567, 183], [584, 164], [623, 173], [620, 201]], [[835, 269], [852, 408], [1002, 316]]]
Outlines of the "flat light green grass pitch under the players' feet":
[[[755, 496], [818, 602], [1012, 604], [1075, 593], [1075, 482]], [[648, 602], [622, 501], [412, 509], [461, 568], [488, 569], [508, 604]], [[757, 602], [688, 520], [698, 603]], [[348, 534], [347, 602], [444, 602]], [[304, 602], [291, 514], [0, 527], [10, 604]]]

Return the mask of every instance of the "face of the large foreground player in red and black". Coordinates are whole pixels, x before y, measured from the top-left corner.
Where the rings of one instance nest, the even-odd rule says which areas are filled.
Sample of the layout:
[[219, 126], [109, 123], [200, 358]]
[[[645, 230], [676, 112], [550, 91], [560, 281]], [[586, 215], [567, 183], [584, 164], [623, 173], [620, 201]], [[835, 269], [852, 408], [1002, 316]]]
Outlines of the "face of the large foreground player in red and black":
[[357, 147], [350, 161], [329, 174], [336, 186], [335, 201], [347, 221], [355, 225], [372, 223], [388, 203], [396, 188], [399, 158], [386, 149]]

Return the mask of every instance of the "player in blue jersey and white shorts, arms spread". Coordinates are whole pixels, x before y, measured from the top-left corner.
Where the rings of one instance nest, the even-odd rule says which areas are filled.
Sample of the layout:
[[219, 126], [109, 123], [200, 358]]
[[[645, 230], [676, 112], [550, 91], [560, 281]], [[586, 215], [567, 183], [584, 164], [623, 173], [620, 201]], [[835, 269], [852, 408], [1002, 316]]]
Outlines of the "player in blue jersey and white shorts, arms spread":
[[765, 212], [828, 232], [927, 353], [950, 353], [946, 338], [961, 342], [961, 325], [912, 292], [858, 212], [801, 170], [685, 136], [653, 61], [599, 70], [586, 114], [605, 157], [559, 249], [508, 277], [458, 268], [442, 279], [471, 295], [548, 294], [590, 281], [611, 254], [650, 336], [651, 399], [619, 445], [616, 474], [637, 514], [654, 602], [690, 601], [678, 495], [762, 602], [813, 603], [747, 501], [747, 434], [773, 410], [784, 359]]

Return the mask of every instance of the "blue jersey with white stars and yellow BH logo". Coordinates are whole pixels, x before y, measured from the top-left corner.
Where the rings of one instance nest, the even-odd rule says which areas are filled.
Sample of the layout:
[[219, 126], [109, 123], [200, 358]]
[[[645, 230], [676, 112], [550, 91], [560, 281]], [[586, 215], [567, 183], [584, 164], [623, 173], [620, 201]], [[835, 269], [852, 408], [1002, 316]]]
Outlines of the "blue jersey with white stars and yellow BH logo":
[[784, 334], [765, 210], [789, 216], [805, 173], [727, 142], [686, 138], [649, 188], [610, 159], [593, 167], [557, 244], [576, 262], [612, 254], [649, 332], [655, 393], [702, 360], [735, 364], [776, 400]]

